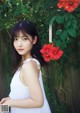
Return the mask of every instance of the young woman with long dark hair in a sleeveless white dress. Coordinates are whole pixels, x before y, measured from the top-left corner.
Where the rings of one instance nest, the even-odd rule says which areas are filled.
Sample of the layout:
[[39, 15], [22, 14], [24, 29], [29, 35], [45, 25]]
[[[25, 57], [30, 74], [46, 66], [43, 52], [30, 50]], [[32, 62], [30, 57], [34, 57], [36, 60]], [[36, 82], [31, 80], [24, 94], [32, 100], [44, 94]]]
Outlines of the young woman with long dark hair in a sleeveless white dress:
[[21, 21], [12, 30], [14, 68], [17, 68], [9, 97], [0, 101], [11, 107], [11, 113], [51, 113], [45, 95], [40, 65], [41, 42], [32, 22]]

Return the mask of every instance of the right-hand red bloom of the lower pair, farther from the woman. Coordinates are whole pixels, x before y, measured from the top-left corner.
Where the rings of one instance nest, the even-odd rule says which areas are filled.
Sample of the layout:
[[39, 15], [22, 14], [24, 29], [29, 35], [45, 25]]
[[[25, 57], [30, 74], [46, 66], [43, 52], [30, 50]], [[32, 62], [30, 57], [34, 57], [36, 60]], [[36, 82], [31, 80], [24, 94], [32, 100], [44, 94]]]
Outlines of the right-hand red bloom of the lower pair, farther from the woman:
[[52, 59], [54, 60], [59, 60], [60, 57], [63, 55], [63, 51], [62, 50], [59, 50], [59, 47], [53, 47], [52, 49]]

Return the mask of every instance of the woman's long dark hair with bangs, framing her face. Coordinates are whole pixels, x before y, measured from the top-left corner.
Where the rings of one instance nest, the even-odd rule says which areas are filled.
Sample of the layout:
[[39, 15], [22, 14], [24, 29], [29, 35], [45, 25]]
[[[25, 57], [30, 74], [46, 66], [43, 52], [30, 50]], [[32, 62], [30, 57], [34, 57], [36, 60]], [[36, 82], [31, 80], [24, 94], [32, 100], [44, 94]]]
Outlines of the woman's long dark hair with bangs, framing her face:
[[38, 35], [37, 29], [31, 21], [23, 20], [14, 25], [14, 27], [12, 29], [12, 33], [11, 33], [13, 67], [16, 69], [22, 60], [21, 55], [19, 55], [16, 52], [16, 50], [14, 49], [14, 46], [13, 46], [14, 37], [15, 37], [16, 33], [18, 33], [19, 31], [22, 31], [22, 33], [27, 33], [27, 34], [31, 35], [32, 39], [34, 39], [34, 37], [37, 36], [37, 42], [36, 42], [36, 44], [33, 45], [33, 48], [31, 50], [31, 55], [32, 55], [32, 57], [36, 58], [40, 62], [41, 66], [45, 66], [46, 62], [44, 61], [42, 54], [40, 53], [41, 40]]

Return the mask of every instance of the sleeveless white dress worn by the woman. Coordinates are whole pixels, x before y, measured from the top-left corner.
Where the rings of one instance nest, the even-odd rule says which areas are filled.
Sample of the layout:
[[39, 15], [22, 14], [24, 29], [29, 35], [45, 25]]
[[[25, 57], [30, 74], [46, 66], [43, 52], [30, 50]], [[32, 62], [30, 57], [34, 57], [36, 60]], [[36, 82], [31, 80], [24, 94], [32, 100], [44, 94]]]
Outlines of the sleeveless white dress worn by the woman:
[[[36, 61], [38, 68], [40, 69], [40, 63], [35, 58], [28, 58], [23, 63], [27, 63], [30, 60]], [[16, 73], [14, 74], [14, 76], [11, 80], [9, 97], [11, 99], [27, 99], [27, 98], [30, 98], [29, 89], [28, 89], [27, 86], [25, 86], [20, 81], [19, 75], [20, 75], [20, 69], [18, 69], [16, 71]], [[42, 91], [43, 91], [43, 95], [44, 95], [44, 105], [40, 108], [11, 107], [11, 113], [51, 113], [51, 110], [50, 110], [50, 107], [49, 107], [49, 104], [48, 104], [48, 101], [47, 101], [47, 98], [46, 98], [46, 95], [45, 95], [45, 91], [44, 91], [41, 70], [40, 70], [40, 73], [39, 73], [39, 82], [40, 82], [40, 85], [41, 85], [41, 88], [42, 88]]]

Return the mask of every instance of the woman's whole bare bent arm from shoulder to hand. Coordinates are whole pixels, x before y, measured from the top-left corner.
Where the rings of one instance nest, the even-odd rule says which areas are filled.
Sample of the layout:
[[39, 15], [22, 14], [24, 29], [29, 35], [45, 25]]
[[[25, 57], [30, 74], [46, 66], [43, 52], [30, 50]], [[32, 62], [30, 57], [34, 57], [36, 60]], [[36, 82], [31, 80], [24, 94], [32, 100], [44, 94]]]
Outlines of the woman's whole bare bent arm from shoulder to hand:
[[31, 98], [28, 99], [9, 99], [4, 104], [20, 108], [38, 108], [44, 103], [42, 89], [39, 83], [39, 70], [34, 61], [23, 65], [21, 74], [24, 77], [25, 84], [29, 88]]

